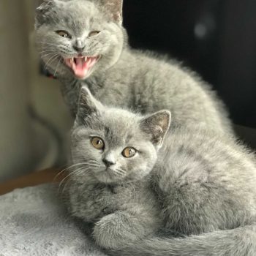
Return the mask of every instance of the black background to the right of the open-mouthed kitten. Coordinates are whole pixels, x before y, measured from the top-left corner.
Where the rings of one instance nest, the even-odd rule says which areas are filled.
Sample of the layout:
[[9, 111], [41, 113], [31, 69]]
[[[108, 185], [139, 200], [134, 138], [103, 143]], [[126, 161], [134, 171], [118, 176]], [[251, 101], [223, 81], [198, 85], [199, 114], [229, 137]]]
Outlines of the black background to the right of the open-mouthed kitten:
[[256, 127], [255, 0], [124, 0], [134, 48], [156, 50], [197, 71], [235, 124]]

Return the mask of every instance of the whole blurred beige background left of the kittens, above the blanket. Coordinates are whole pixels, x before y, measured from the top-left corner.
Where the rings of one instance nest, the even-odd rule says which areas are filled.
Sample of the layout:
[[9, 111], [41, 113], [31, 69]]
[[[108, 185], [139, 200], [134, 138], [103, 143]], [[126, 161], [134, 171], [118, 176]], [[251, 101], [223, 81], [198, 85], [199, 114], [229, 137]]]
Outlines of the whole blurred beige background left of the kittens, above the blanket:
[[59, 83], [39, 76], [33, 23], [33, 0], [0, 1], [0, 182], [65, 161], [72, 122]]

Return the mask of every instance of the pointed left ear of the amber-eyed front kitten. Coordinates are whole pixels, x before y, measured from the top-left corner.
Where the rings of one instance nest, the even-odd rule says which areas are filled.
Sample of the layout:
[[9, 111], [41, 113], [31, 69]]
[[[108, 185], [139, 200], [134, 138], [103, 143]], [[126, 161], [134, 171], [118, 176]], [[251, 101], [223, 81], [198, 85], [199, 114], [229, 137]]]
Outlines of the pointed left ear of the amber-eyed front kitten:
[[80, 90], [76, 122], [89, 124], [91, 120], [99, 118], [102, 108], [102, 104], [91, 95], [86, 86], [83, 86]]

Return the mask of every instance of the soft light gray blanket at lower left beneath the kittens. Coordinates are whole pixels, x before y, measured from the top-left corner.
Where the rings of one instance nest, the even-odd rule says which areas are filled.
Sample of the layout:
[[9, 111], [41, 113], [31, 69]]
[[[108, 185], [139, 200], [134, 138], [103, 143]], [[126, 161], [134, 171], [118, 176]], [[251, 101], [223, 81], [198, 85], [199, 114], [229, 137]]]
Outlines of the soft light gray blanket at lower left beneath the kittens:
[[0, 256], [103, 256], [67, 216], [52, 185], [0, 197]]

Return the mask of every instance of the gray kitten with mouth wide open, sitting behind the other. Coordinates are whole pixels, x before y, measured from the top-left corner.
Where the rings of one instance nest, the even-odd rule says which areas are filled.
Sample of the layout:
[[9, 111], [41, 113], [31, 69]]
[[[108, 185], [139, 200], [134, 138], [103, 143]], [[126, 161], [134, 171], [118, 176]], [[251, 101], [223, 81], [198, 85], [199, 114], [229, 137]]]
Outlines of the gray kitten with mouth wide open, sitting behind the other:
[[122, 0], [45, 0], [37, 9], [42, 60], [63, 83], [72, 113], [86, 85], [106, 105], [140, 113], [168, 109], [173, 124], [232, 133], [222, 102], [197, 75], [129, 48], [121, 9]]

